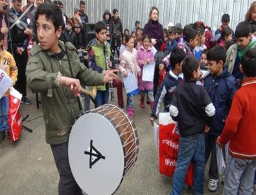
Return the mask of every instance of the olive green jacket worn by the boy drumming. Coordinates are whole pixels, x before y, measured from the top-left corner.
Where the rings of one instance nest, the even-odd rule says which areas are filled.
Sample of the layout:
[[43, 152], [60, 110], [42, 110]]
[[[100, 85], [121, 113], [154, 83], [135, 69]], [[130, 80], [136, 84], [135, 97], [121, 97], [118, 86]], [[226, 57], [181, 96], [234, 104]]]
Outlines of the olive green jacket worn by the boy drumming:
[[[59, 41], [59, 46], [69, 54], [73, 76], [84, 86], [102, 85], [103, 74], [86, 68], [78, 57], [75, 46]], [[33, 93], [41, 93], [43, 118], [45, 121], [45, 137], [49, 144], [62, 144], [69, 140], [69, 132], [75, 119], [81, 114], [75, 94], [67, 87], [58, 87], [56, 77], [59, 75], [71, 77], [67, 56], [58, 59], [49, 50], [43, 50], [40, 45], [34, 45], [30, 52], [26, 76], [29, 88]]]

